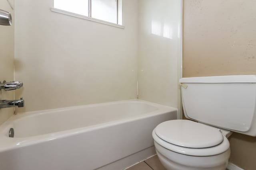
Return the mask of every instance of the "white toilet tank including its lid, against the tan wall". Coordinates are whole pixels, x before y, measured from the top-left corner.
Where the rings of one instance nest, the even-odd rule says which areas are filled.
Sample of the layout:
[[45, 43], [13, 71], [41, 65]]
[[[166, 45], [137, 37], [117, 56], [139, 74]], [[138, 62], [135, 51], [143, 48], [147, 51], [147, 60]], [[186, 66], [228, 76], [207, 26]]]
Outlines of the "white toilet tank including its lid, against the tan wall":
[[181, 78], [188, 119], [256, 136], [256, 75]]

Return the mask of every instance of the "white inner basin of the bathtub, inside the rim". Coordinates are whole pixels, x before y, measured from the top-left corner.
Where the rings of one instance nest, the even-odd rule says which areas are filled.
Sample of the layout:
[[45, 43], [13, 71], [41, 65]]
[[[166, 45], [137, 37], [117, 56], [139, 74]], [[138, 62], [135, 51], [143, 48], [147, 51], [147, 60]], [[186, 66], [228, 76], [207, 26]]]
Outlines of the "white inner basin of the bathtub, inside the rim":
[[31, 137], [129, 119], [158, 109], [139, 101], [56, 109], [14, 119], [5, 130], [5, 135], [8, 136], [10, 127], [14, 128], [14, 138]]

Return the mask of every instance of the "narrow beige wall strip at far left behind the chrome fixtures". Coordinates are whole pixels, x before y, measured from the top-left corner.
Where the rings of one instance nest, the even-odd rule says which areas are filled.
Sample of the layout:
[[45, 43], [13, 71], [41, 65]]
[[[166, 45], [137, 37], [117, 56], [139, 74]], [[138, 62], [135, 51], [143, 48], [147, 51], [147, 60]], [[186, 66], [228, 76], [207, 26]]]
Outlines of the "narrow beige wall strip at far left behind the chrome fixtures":
[[[0, 1], [0, 9], [8, 11], [14, 19], [14, 12], [6, 0]], [[14, 57], [14, 24], [12, 26], [0, 25], [0, 81], [13, 81], [13, 57]], [[0, 92], [0, 100], [12, 100], [13, 91]], [[13, 114], [13, 108], [0, 109], [0, 124]]]

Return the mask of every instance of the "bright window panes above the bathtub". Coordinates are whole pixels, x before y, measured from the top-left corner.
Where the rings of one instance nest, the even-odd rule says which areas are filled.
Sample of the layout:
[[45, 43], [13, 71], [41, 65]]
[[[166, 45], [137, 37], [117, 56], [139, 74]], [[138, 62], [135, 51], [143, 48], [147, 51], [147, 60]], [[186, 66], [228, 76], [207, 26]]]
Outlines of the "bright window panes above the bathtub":
[[54, 8], [122, 25], [122, 0], [54, 0]]

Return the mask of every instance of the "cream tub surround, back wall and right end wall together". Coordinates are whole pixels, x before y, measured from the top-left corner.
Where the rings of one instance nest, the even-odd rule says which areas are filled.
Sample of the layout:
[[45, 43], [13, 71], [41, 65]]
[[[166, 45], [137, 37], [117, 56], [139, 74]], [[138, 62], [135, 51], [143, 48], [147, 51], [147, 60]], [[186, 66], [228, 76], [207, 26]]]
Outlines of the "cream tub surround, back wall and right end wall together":
[[134, 99], [137, 81], [138, 98], [178, 108], [180, 2], [123, 0], [120, 29], [51, 12], [53, 0], [16, 0], [17, 111]]

